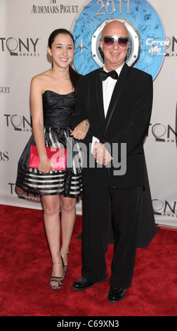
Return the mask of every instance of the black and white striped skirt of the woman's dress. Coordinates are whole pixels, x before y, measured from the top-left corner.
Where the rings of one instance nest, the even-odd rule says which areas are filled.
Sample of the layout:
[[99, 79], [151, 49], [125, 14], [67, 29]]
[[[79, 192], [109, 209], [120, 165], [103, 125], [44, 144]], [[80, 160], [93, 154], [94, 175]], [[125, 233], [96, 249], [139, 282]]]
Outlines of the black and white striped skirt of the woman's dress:
[[[44, 131], [46, 146], [67, 148], [67, 137], [70, 137], [70, 129], [47, 128]], [[70, 137], [71, 139], [71, 137]], [[72, 138], [72, 163], [65, 171], [55, 170], [50, 173], [39, 173], [38, 169], [29, 168], [30, 148], [34, 143], [32, 135], [22, 151], [18, 161], [18, 174], [15, 182], [15, 192], [19, 198], [33, 199], [46, 195], [61, 195], [78, 197], [82, 192], [81, 180], [81, 151], [79, 144]], [[71, 157], [71, 155], [70, 155]]]

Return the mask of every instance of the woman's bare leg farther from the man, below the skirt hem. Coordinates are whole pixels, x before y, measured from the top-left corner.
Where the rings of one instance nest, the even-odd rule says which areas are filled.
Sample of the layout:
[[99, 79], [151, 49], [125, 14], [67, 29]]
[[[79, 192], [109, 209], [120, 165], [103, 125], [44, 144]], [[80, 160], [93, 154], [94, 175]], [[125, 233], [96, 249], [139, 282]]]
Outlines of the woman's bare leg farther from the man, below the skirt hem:
[[[60, 257], [60, 199], [59, 196], [42, 196], [44, 225], [53, 262], [53, 277], [63, 277]], [[55, 264], [56, 263], [56, 264]], [[51, 285], [57, 285], [52, 282]]]

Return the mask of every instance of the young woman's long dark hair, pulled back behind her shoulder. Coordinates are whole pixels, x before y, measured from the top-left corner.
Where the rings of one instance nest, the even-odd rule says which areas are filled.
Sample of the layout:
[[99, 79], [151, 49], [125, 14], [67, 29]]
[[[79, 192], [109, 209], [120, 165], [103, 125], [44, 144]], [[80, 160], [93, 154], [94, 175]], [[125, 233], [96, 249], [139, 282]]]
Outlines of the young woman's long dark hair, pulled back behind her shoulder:
[[[53, 44], [54, 40], [55, 40], [55, 37], [59, 34], [65, 34], [65, 35], [69, 35], [74, 43], [74, 38], [73, 38], [73, 35], [70, 31], [66, 30], [66, 29], [56, 29], [54, 30], [50, 37], [48, 38], [48, 47], [51, 49], [51, 45]], [[72, 82], [72, 86], [74, 87], [74, 92], [76, 94], [77, 92], [77, 85], [78, 85], [78, 82], [79, 82], [79, 78], [81, 77], [81, 75], [79, 75], [79, 73], [77, 73], [76, 70], [74, 70], [72, 68], [72, 66], [70, 65], [70, 68], [69, 68], [69, 73], [70, 73], [70, 80]]]

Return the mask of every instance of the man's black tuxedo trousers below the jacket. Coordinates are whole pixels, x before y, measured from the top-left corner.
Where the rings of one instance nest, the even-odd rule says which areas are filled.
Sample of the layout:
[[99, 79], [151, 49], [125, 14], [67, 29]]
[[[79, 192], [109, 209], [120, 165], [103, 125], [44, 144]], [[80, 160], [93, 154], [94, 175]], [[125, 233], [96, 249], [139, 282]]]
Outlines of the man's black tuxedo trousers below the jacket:
[[91, 282], [107, 278], [105, 251], [112, 222], [114, 256], [110, 286], [131, 286], [142, 195], [143, 187], [103, 189], [84, 185], [82, 277]]

